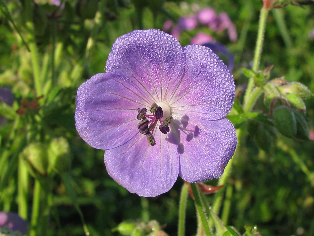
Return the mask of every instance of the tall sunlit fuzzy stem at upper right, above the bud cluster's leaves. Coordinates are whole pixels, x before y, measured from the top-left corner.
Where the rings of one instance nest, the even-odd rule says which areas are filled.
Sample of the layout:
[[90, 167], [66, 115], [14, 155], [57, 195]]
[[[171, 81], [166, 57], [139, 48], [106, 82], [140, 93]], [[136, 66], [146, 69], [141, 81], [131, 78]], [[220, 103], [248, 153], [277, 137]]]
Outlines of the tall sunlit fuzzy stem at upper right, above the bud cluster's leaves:
[[[266, 28], [266, 19], [268, 15], [268, 9], [262, 8], [259, 18], [259, 25], [258, 25], [258, 33], [257, 33], [257, 41], [256, 41], [256, 47], [255, 47], [255, 53], [254, 53], [254, 60], [253, 60], [253, 71], [257, 71], [259, 68], [259, 64], [261, 61], [261, 55], [263, 50], [263, 41], [264, 41], [264, 34], [265, 34], [265, 28]], [[254, 78], [251, 77], [249, 79], [249, 82], [247, 84], [245, 96], [244, 96], [244, 106], [246, 107], [247, 103], [250, 100], [251, 93], [254, 89]]]

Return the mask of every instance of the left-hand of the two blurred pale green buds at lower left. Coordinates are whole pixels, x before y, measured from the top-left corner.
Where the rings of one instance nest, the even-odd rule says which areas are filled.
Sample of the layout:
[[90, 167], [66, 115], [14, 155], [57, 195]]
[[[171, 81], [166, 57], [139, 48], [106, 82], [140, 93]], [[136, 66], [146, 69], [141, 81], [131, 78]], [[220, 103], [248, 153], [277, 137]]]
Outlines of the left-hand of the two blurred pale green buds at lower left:
[[22, 153], [25, 160], [30, 164], [33, 171], [46, 175], [48, 168], [47, 147], [44, 143], [32, 143]]

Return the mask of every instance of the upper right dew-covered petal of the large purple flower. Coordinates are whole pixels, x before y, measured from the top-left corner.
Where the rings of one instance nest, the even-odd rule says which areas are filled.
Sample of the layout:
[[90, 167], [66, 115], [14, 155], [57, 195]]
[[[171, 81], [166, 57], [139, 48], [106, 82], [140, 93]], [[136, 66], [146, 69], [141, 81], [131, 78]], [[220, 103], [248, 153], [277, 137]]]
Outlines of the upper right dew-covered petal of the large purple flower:
[[171, 108], [206, 120], [223, 118], [235, 98], [233, 76], [209, 48], [188, 45], [184, 49], [186, 71], [171, 98]]

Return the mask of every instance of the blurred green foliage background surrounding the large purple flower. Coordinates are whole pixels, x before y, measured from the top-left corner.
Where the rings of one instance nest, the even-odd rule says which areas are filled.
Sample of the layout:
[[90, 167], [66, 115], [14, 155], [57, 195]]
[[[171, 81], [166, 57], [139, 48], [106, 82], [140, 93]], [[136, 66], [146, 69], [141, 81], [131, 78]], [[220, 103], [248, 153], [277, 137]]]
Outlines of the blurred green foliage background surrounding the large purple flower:
[[[0, 13], [0, 86], [10, 87], [15, 95], [13, 109], [39, 95], [36, 109], [25, 109], [20, 124], [8, 118], [0, 127], [2, 158], [6, 171], [0, 173], [3, 184], [0, 210], [19, 211], [18, 161], [23, 149], [34, 141], [49, 143], [64, 137], [71, 157], [69, 171], [78, 203], [91, 235], [119, 235], [113, 232], [124, 220], [155, 219], [164, 231], [176, 235], [178, 201], [183, 181], [161, 196], [144, 199], [130, 194], [108, 176], [102, 150], [89, 147], [77, 134], [74, 122], [75, 95], [78, 86], [96, 73], [104, 71], [106, 59], [115, 39], [134, 29], [162, 29], [166, 20], [178, 20], [190, 14], [195, 6], [211, 7], [218, 13], [227, 12], [236, 26], [238, 40], [230, 42], [226, 32], [215, 34], [235, 55], [233, 70], [237, 92], [245, 89], [247, 78], [241, 68], [250, 68], [262, 1], [61, 1], [63, 8], [46, 1], [31, 3], [33, 17], [27, 11], [28, 0], [1, 1], [13, 18], [16, 28], [29, 46], [37, 51], [37, 65], [17, 34], [12, 21]], [[4, 9], [4, 10], [3, 10]], [[95, 15], [96, 14], [96, 15]], [[88, 19], [90, 18], [90, 19]], [[33, 22], [34, 32], [25, 22]], [[182, 46], [189, 44], [198, 31], [181, 34]], [[34, 66], [35, 65], [35, 66]], [[288, 81], [300, 81], [314, 91], [314, 8], [288, 5], [271, 10], [268, 15], [260, 68], [274, 65], [271, 77], [285, 76]], [[34, 77], [39, 69], [41, 94], [36, 91]], [[240, 93], [239, 93], [240, 94]], [[240, 96], [241, 97], [241, 96]], [[306, 101], [307, 120], [314, 134], [313, 98]], [[265, 112], [261, 101], [255, 107]], [[257, 225], [263, 235], [314, 235], [314, 145], [313, 141], [296, 142], [277, 132], [270, 153], [259, 149], [248, 122], [241, 126], [241, 145], [233, 162], [224, 201], [228, 225], [241, 233], [244, 226]], [[14, 132], [14, 139], [10, 139]], [[25, 137], [24, 137], [25, 136]], [[17, 159], [15, 159], [17, 160]], [[26, 165], [24, 163], [24, 165]], [[10, 171], [7, 171], [10, 168]], [[29, 168], [29, 167], [28, 167]], [[4, 175], [4, 173], [9, 175]], [[82, 222], [69, 197], [62, 177], [51, 175], [51, 211], [46, 235], [83, 235]], [[5, 181], [4, 181], [5, 180]], [[217, 180], [208, 182], [215, 185]], [[31, 219], [35, 181], [27, 183], [27, 218]], [[43, 193], [41, 193], [43, 197]], [[208, 195], [209, 202], [213, 196]], [[228, 204], [230, 207], [228, 208]], [[42, 207], [42, 203], [41, 203]], [[43, 213], [41, 213], [43, 214]], [[38, 222], [40, 224], [40, 222]], [[196, 232], [197, 222], [192, 199], [187, 205], [187, 235]]]

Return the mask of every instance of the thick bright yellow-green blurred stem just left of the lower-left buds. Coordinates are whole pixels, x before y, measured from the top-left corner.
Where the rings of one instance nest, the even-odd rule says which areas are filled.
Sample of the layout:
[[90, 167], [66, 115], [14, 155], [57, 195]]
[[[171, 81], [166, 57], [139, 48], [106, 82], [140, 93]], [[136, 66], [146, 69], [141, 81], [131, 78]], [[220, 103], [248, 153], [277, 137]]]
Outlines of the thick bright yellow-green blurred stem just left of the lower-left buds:
[[27, 196], [28, 196], [28, 171], [23, 157], [19, 156], [18, 168], [18, 202], [19, 202], [19, 216], [27, 219]]

